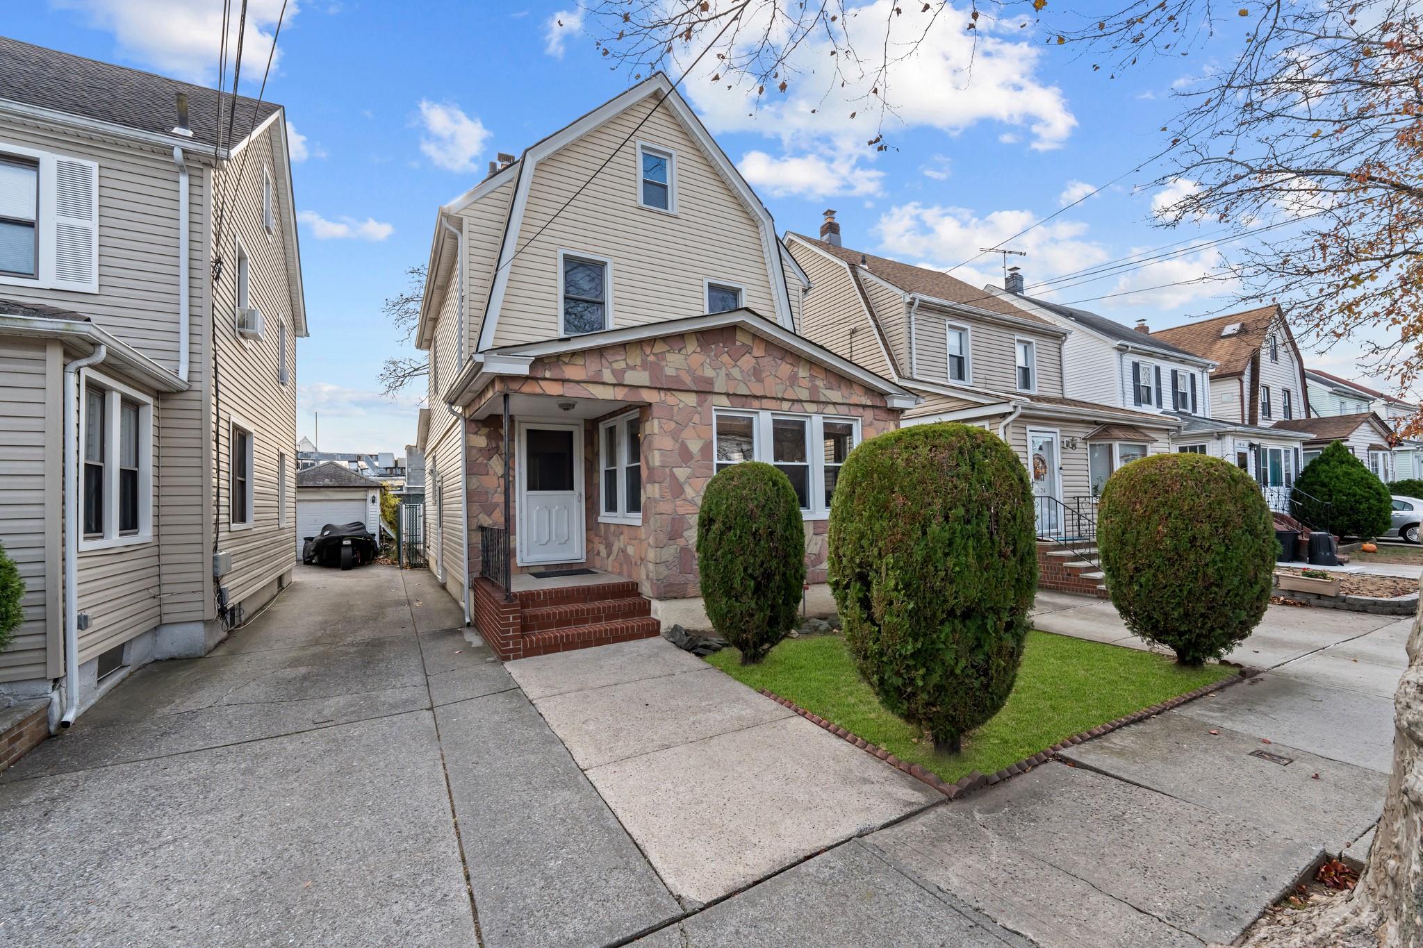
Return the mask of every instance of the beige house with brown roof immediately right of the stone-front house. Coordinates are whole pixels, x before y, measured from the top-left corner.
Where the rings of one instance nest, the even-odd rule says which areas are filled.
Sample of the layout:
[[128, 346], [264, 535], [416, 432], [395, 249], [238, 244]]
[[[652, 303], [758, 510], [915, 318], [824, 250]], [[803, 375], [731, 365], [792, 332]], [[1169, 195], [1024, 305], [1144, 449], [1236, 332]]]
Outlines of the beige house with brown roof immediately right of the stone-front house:
[[1170, 414], [1066, 394], [1063, 347], [1077, 330], [1010, 293], [851, 250], [834, 212], [820, 239], [787, 233], [785, 246], [814, 284], [805, 335], [918, 394], [905, 425], [961, 421], [1007, 441], [1032, 478], [1042, 536], [1089, 533], [1107, 476], [1167, 451], [1181, 428]]

